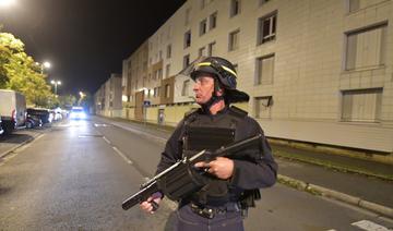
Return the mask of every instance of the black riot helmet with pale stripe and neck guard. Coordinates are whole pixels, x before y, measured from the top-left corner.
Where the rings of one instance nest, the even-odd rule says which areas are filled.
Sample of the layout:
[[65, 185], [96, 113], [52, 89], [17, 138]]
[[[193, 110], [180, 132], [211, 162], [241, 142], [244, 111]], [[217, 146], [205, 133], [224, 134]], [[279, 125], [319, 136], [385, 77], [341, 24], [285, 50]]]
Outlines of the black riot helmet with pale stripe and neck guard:
[[248, 101], [249, 95], [236, 89], [237, 73], [235, 66], [226, 59], [219, 57], [209, 57], [195, 63], [190, 73], [193, 81], [201, 74], [209, 74], [216, 77], [221, 87], [225, 88], [224, 98], [228, 102]]

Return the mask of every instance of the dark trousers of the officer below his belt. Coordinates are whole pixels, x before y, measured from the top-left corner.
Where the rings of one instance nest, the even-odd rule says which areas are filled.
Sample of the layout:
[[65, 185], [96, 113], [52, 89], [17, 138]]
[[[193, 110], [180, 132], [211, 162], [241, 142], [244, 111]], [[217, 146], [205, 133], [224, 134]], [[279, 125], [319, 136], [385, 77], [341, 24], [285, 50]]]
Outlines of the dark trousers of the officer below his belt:
[[190, 204], [180, 207], [177, 215], [176, 231], [243, 231], [241, 210], [237, 203], [212, 207], [217, 209], [214, 218], [198, 215]]

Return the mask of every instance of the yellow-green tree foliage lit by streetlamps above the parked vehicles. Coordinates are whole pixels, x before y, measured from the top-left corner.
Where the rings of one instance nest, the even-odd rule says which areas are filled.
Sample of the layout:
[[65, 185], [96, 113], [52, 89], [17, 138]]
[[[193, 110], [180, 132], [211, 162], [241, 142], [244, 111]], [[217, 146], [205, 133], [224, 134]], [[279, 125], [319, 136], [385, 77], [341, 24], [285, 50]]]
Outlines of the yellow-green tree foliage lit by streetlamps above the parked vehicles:
[[24, 44], [12, 34], [1, 32], [0, 88], [22, 93], [28, 105], [53, 107], [59, 104], [40, 74], [40, 66], [24, 52]]

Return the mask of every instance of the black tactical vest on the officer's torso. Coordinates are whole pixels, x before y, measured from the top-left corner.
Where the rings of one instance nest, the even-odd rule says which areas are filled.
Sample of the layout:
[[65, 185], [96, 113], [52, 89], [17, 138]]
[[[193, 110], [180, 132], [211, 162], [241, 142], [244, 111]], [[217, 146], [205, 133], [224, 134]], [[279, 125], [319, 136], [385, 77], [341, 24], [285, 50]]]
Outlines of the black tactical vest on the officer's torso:
[[[214, 120], [194, 111], [184, 118], [182, 156], [191, 157], [200, 150], [215, 150], [235, 142], [237, 124], [247, 115], [246, 111], [231, 107], [224, 117]], [[206, 177], [207, 184], [191, 196], [192, 200], [207, 204], [212, 200], [229, 200], [228, 181], [213, 175]]]

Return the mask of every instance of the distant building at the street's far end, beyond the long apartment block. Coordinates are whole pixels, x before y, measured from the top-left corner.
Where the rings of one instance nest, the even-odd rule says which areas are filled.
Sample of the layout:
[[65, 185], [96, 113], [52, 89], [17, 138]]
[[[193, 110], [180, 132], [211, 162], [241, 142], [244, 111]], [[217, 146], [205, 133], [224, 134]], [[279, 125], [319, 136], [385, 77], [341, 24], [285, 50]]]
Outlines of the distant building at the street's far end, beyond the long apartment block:
[[95, 113], [105, 117], [121, 117], [121, 75], [111, 74], [94, 94]]

